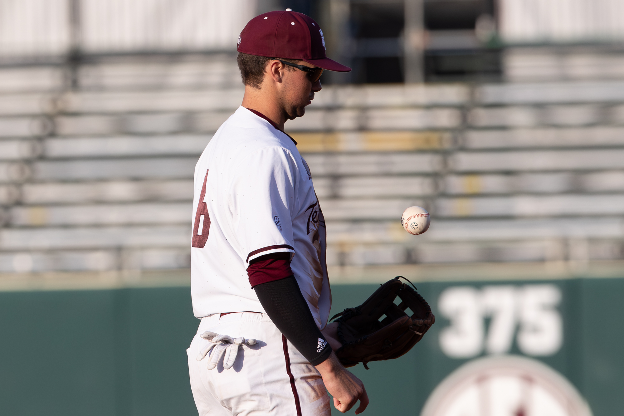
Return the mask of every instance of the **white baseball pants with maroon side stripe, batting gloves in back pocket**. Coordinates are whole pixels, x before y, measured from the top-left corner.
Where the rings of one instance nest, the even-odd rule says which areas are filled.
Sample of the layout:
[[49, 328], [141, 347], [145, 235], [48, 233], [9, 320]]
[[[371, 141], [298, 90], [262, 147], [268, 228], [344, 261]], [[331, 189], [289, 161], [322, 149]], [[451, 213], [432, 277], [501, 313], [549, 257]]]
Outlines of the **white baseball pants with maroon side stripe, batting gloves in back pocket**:
[[[197, 355], [208, 344], [205, 331], [254, 338], [240, 347], [231, 369], [207, 369]], [[266, 314], [235, 312], [202, 319], [187, 349], [191, 389], [199, 416], [331, 416], [321, 374], [275, 327]]]

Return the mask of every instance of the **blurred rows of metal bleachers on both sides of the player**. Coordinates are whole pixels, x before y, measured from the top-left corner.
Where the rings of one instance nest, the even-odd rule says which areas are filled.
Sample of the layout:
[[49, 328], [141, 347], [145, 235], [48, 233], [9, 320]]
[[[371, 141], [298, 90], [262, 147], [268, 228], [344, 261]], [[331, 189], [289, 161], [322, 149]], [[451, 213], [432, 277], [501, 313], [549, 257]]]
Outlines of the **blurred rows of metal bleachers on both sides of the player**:
[[[0, 272], [184, 269], [233, 54], [0, 69]], [[624, 81], [326, 86], [286, 124], [336, 267], [623, 256]], [[431, 229], [399, 218], [426, 207]]]

